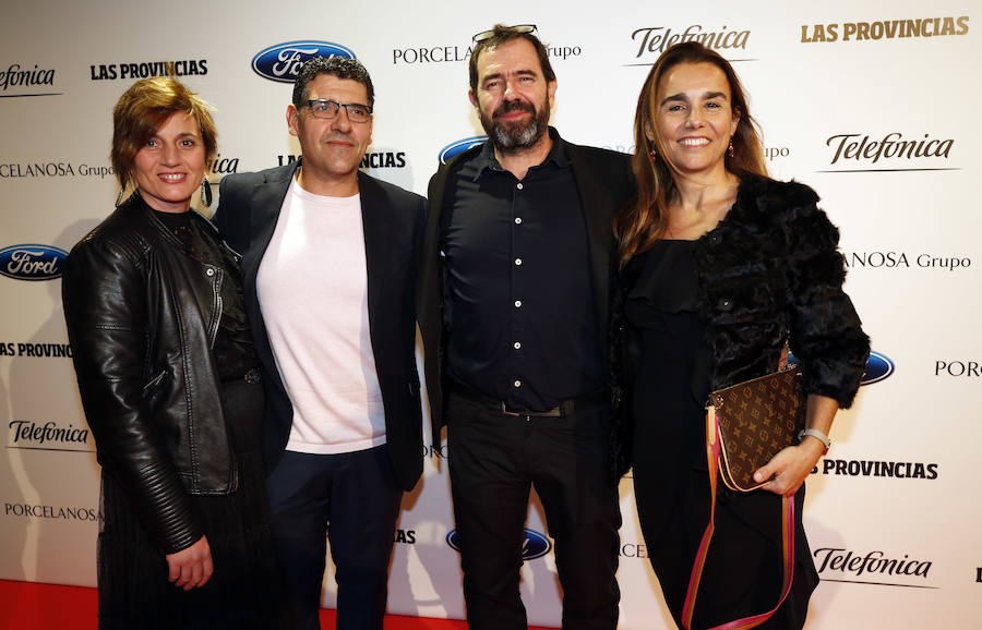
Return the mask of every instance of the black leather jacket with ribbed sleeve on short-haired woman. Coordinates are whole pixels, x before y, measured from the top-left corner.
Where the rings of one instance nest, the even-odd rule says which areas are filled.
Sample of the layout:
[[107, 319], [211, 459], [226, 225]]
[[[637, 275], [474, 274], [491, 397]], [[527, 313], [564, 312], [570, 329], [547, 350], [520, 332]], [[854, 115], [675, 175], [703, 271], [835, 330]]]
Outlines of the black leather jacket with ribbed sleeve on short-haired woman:
[[139, 193], [64, 266], [64, 317], [99, 463], [165, 554], [203, 533], [189, 494], [238, 484], [209, 351], [223, 277], [187, 255]]

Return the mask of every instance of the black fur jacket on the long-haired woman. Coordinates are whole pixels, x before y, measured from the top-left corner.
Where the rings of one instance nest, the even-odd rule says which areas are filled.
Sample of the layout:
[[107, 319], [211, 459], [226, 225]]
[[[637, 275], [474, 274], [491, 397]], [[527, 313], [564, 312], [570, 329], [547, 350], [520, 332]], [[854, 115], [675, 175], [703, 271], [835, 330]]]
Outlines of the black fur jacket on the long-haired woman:
[[[839, 231], [817, 202], [804, 184], [743, 175], [726, 218], [696, 242], [710, 389], [774, 372], [787, 341], [803, 369], [805, 393], [834, 398], [842, 408], [852, 403], [870, 339], [842, 291]], [[631, 465], [627, 388], [638, 344], [623, 305], [639, 272], [636, 261], [619, 277], [611, 316], [618, 475]]]

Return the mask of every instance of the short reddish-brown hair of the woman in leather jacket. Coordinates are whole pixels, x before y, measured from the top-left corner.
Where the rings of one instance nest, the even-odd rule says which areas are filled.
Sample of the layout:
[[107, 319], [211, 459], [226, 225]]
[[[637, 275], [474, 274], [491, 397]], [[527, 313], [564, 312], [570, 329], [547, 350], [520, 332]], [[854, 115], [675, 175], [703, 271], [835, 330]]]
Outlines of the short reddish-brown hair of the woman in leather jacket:
[[130, 86], [112, 108], [112, 149], [109, 158], [119, 185], [125, 190], [134, 179], [136, 154], [171, 114], [182, 111], [197, 121], [211, 163], [218, 152], [218, 131], [212, 106], [171, 76], [141, 78]]

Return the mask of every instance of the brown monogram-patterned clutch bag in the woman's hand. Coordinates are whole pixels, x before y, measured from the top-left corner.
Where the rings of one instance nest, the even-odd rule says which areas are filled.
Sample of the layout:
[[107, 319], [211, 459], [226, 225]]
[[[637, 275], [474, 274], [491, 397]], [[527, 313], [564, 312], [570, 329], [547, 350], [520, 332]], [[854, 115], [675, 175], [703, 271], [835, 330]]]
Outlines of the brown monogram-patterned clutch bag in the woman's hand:
[[731, 488], [752, 489], [754, 471], [797, 443], [805, 422], [800, 376], [794, 366], [712, 392], [726, 450], [720, 473]]

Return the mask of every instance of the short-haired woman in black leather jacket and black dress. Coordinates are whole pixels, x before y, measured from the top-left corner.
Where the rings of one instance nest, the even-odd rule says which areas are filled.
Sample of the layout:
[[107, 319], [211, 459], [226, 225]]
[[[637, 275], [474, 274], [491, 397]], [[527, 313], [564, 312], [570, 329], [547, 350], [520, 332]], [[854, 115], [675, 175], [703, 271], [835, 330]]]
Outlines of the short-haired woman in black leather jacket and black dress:
[[276, 628], [260, 462], [263, 390], [235, 253], [191, 209], [216, 153], [207, 106], [173, 78], [113, 110], [135, 191], [69, 255], [62, 299], [103, 465], [99, 628]]

